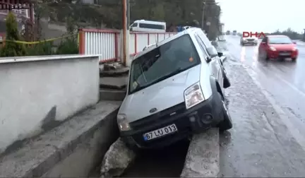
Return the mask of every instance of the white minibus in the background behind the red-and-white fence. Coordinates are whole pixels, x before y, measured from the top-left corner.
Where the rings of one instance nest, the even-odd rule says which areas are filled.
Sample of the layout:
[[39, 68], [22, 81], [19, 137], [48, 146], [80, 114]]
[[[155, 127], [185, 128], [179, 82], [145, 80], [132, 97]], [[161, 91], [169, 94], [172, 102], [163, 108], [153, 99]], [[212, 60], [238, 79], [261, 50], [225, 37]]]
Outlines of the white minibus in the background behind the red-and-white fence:
[[166, 32], [166, 23], [150, 20], [136, 20], [130, 26], [135, 32]]

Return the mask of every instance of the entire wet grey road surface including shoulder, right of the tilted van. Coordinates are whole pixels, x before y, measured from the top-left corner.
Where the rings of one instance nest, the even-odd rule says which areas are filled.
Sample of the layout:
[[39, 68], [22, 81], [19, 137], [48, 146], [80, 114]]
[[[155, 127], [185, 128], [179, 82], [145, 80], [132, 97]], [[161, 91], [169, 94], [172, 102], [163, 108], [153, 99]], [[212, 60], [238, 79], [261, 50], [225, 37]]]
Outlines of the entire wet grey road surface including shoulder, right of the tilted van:
[[220, 135], [220, 177], [304, 177], [305, 47], [294, 64], [258, 60], [257, 47], [241, 47], [239, 37], [225, 46], [234, 129]]

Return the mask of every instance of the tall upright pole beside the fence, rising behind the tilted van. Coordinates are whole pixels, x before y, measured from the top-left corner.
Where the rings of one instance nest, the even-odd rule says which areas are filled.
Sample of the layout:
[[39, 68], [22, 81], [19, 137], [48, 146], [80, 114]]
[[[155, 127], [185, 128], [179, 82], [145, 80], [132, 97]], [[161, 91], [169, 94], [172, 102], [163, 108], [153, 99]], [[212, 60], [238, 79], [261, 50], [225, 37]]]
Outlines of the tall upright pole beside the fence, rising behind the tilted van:
[[123, 64], [128, 66], [129, 60], [129, 0], [122, 0], [123, 4]]

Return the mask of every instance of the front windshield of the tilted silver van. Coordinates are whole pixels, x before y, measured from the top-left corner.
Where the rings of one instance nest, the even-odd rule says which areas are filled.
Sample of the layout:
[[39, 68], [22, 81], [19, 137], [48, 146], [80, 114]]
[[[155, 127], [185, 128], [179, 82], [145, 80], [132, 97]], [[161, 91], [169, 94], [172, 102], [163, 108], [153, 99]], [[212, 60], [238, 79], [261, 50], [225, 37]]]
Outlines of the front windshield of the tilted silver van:
[[182, 35], [133, 60], [129, 76], [128, 95], [200, 63], [191, 37]]

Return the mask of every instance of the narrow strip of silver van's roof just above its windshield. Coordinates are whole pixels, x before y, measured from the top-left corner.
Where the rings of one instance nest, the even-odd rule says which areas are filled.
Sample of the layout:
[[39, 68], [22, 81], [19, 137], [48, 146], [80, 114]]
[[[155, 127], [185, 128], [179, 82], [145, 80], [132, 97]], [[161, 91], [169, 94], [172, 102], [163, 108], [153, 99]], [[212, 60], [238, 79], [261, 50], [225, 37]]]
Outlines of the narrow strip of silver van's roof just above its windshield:
[[155, 44], [155, 47], [150, 47], [150, 48], [146, 49], [145, 51], [142, 51], [142, 52], [138, 53], [136, 55], [136, 58], [141, 57], [144, 54], [152, 51], [153, 49], [155, 49], [155, 48], [157, 48], [157, 47], [159, 47], [161, 45], [164, 45], [165, 43], [170, 42], [170, 41], [172, 41], [172, 40], [174, 40], [174, 39], [176, 39], [178, 37], [181, 37], [182, 35], [186, 35], [186, 34], [193, 35], [197, 30], [201, 30], [201, 28], [188, 28], [188, 29], [186, 29], [186, 30], [184, 30], [182, 32], [178, 32], [176, 35], [173, 35], [172, 37], [168, 37], [167, 39], [162, 40], [161, 42], [157, 42]]

